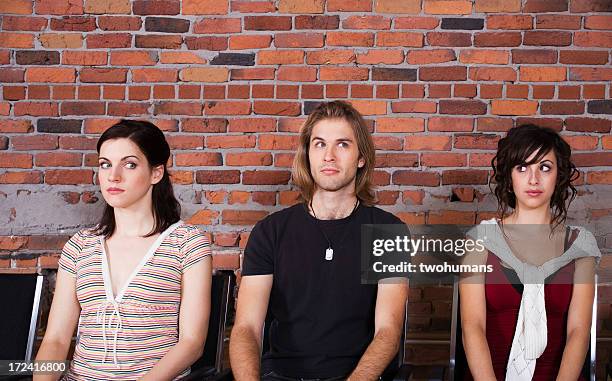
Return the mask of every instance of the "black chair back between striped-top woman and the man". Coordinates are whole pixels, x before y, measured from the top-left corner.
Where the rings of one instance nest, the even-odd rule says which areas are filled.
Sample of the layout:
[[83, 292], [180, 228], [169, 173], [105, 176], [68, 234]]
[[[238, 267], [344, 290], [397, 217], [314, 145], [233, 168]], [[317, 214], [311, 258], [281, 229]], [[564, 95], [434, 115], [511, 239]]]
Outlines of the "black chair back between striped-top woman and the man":
[[217, 271], [212, 277], [210, 319], [204, 353], [191, 366], [191, 373], [182, 378], [192, 380], [231, 380], [232, 373], [223, 368], [227, 315], [233, 303], [236, 278], [231, 271]]

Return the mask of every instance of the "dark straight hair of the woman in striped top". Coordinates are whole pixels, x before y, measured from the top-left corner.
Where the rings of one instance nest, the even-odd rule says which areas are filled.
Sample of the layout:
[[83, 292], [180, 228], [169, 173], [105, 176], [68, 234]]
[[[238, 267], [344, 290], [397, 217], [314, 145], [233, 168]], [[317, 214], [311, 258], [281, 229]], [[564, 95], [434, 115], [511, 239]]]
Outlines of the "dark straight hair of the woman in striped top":
[[[153, 185], [152, 208], [155, 224], [151, 232], [145, 237], [163, 232], [170, 225], [180, 220], [181, 216], [181, 205], [174, 197], [170, 175], [166, 169], [166, 163], [170, 158], [170, 146], [166, 142], [164, 133], [153, 123], [124, 119], [104, 131], [100, 136], [96, 145], [98, 153], [100, 153], [102, 144], [112, 139], [130, 139], [145, 155], [150, 167], [164, 166], [162, 179]], [[109, 238], [115, 232], [115, 227], [113, 207], [106, 204], [102, 218], [94, 228], [94, 233]]]

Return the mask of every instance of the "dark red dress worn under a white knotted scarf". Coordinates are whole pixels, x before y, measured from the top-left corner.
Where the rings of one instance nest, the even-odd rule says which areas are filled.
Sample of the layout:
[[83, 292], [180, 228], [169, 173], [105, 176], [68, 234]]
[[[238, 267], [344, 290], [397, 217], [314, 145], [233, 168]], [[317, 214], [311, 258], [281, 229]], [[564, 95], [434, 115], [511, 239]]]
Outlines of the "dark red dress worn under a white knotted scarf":
[[[495, 377], [506, 378], [506, 366], [516, 329], [523, 285], [513, 270], [502, 267], [499, 258], [489, 253], [485, 295], [487, 301], [487, 343]], [[537, 359], [532, 381], [554, 381], [561, 366], [567, 338], [567, 315], [572, 300], [574, 262], [567, 264], [547, 279], [544, 286], [548, 339], [544, 353]], [[516, 277], [513, 279], [513, 277]], [[512, 279], [510, 281], [509, 279]], [[471, 379], [471, 376], [466, 377]], [[583, 376], [579, 380], [586, 381]]]

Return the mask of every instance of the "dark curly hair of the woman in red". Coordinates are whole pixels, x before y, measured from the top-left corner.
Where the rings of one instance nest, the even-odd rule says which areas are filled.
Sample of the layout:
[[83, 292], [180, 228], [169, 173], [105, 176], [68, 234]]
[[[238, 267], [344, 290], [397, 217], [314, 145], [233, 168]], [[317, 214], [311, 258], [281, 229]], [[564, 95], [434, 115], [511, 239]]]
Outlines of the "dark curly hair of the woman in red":
[[[576, 188], [572, 181], [578, 178], [578, 170], [572, 163], [572, 149], [553, 129], [524, 124], [511, 128], [506, 137], [497, 143], [497, 153], [491, 160], [495, 180], [494, 194], [497, 198], [497, 212], [503, 220], [508, 208], [516, 208], [516, 196], [512, 188], [512, 169], [517, 165], [537, 163], [550, 151], [557, 159], [557, 181], [555, 191], [550, 199], [553, 218], [553, 229], [565, 222], [567, 207], [576, 197]], [[529, 162], [527, 159], [534, 152], [537, 155]], [[492, 181], [491, 181], [492, 182]], [[492, 184], [489, 183], [489, 186]]]

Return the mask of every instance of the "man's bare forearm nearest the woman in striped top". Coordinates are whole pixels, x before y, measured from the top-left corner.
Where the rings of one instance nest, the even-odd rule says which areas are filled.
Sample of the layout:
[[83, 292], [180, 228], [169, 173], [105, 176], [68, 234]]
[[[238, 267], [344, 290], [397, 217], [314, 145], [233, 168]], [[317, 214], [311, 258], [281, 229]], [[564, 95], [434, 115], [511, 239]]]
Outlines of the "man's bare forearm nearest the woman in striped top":
[[238, 381], [260, 377], [261, 332], [268, 311], [272, 275], [242, 277], [230, 338], [230, 364]]

